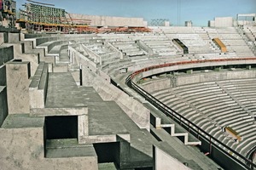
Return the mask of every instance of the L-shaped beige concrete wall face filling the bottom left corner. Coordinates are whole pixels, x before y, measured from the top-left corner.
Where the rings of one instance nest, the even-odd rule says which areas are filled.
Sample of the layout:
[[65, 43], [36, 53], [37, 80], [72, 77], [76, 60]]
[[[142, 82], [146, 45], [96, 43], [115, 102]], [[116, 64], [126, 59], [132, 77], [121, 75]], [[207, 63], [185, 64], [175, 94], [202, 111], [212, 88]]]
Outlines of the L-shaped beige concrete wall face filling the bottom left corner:
[[0, 128], [1, 170], [96, 170], [96, 157], [44, 158], [43, 127]]

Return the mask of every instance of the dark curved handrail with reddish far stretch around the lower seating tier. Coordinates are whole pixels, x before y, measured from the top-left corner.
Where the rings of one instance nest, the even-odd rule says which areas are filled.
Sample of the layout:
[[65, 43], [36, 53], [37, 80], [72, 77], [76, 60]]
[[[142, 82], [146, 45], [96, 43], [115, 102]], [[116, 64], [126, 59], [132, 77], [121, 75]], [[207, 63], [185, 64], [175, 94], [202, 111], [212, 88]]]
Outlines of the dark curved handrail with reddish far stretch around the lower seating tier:
[[[134, 89], [138, 94], [141, 94], [152, 105], [154, 105], [155, 107], [160, 109], [160, 111], [163, 111], [167, 116], [171, 116], [171, 118], [174, 121], [182, 122], [182, 120], [183, 120], [183, 122], [182, 122], [183, 125], [188, 127], [189, 130], [192, 128], [194, 133], [196, 133], [198, 136], [201, 136], [202, 139], [206, 139], [208, 142], [210, 142], [212, 145], [214, 145], [216, 148], [218, 148], [218, 150], [223, 151], [227, 156], [231, 156], [231, 158], [233, 160], [238, 161], [242, 166], [247, 167], [248, 169], [253, 169], [253, 168], [256, 168], [256, 165], [253, 164], [252, 161], [248, 160], [245, 156], [241, 156], [241, 154], [236, 152], [236, 150], [233, 150], [228, 145], [223, 144], [218, 139], [214, 138], [211, 134], [209, 134], [206, 131], [204, 131], [203, 129], [201, 129], [201, 127], [198, 127], [197, 125], [195, 125], [195, 123], [190, 122], [189, 119], [180, 115], [176, 111], [173, 111], [170, 107], [163, 104], [158, 99], [155, 99], [154, 96], [152, 96], [151, 94], [148, 94], [148, 92], [143, 90], [143, 88], [140, 88], [135, 82], [132, 81], [132, 79], [134, 77], [136, 77], [138, 74], [140, 74], [144, 71], [150, 71], [150, 70], [154, 70], [154, 69], [157, 69], [157, 68], [163, 68], [163, 67], [167, 67], [167, 66], [186, 65], [186, 64], [195, 64], [195, 63], [207, 63], [207, 62], [233, 61], [233, 60], [252, 60], [252, 59], [256, 60], [256, 57], [252, 57], [252, 58], [233, 58], [233, 59], [205, 59], [205, 60], [195, 60], [195, 61], [193, 61], [193, 60], [192, 61], [179, 61], [179, 62], [176, 62], [176, 63], [167, 63], [167, 64], [163, 64], [163, 65], [152, 65], [152, 66], [143, 68], [139, 71], [135, 71], [135, 72], [131, 73], [131, 75], [129, 75], [129, 77], [127, 77], [125, 79], [125, 83], [127, 84], [128, 87]], [[191, 127], [191, 125], [194, 126], [194, 127]], [[200, 132], [207, 135], [209, 137], [209, 139], [205, 135], [201, 134]], [[213, 143], [212, 140], [214, 140], [219, 145], [223, 146], [225, 149], [230, 150], [236, 156], [239, 156], [241, 158], [241, 160], [245, 161], [246, 163], [237, 159], [235, 156], [230, 155], [226, 150], [224, 150], [220, 146], [218, 146], [218, 144]]]

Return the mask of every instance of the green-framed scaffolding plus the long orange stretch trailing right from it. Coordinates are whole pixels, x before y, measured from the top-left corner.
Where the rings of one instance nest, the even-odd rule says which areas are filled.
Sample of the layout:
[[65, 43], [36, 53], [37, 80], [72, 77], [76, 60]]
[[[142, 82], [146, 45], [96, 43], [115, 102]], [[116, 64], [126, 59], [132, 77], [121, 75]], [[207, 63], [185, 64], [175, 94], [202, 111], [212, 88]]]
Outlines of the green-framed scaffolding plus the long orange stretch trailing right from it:
[[[1, 1], [1, 0], [0, 0]], [[109, 32], [148, 32], [145, 27], [98, 27], [90, 26], [91, 20], [74, 19], [65, 9], [54, 8], [53, 4], [26, 0], [16, 20], [26, 31], [61, 31], [62, 33], [109, 33]]]

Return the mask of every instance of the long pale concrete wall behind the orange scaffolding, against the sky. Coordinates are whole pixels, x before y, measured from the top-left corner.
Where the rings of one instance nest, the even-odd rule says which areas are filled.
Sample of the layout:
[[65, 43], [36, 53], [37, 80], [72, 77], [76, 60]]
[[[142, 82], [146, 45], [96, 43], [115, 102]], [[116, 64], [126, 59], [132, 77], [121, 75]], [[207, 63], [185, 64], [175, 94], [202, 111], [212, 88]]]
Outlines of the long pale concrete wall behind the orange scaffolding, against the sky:
[[[143, 18], [70, 14], [72, 19], [91, 20], [90, 26], [145, 26]], [[69, 18], [67, 14], [67, 18]]]

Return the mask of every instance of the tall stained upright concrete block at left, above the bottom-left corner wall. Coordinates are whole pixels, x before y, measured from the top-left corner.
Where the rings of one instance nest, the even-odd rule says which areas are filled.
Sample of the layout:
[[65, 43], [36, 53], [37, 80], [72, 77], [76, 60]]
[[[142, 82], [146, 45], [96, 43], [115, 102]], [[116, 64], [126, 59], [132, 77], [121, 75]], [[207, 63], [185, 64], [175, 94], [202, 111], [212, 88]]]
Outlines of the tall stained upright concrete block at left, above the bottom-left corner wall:
[[29, 113], [30, 62], [12, 61], [6, 64], [9, 114]]

